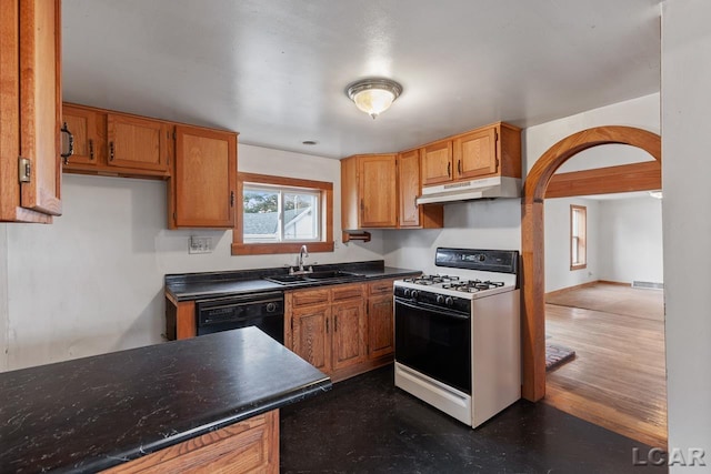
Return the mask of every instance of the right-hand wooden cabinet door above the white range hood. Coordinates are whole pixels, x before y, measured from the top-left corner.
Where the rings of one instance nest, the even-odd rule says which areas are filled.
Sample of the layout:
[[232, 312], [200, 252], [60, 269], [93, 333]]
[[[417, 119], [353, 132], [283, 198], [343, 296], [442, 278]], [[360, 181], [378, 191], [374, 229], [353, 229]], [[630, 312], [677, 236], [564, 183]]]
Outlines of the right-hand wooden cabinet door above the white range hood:
[[495, 128], [479, 130], [454, 139], [454, 162], [457, 179], [480, 178], [497, 174]]

